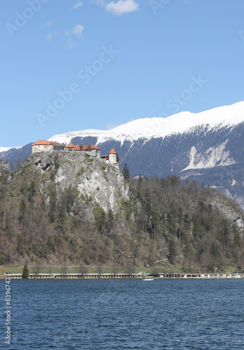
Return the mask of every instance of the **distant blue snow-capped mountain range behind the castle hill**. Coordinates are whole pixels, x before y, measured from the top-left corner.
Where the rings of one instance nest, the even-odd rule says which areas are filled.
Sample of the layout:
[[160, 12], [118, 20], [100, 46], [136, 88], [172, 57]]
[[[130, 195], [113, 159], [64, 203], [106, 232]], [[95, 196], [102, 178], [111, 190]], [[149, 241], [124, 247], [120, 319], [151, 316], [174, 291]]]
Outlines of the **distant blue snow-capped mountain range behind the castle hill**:
[[[111, 130], [83, 130], [50, 137], [62, 144], [96, 144], [106, 155], [113, 147], [121, 167], [131, 174], [209, 184], [231, 195], [244, 209], [244, 102], [201, 113], [144, 118]], [[25, 158], [31, 144], [0, 153], [2, 159]]]

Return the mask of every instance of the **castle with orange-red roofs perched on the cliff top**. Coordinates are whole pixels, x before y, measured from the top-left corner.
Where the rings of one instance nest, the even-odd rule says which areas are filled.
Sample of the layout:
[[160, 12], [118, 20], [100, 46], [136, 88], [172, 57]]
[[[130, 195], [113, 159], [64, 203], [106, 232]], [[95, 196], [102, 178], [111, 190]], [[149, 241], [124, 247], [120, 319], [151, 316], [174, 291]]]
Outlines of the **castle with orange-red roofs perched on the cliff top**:
[[74, 146], [72, 142], [69, 142], [67, 146], [59, 144], [58, 142], [39, 140], [32, 144], [32, 153], [36, 152], [47, 152], [47, 151], [68, 151], [68, 152], [86, 152], [86, 154], [92, 155], [102, 159], [104, 162], [114, 165], [114, 167], [119, 168], [118, 155], [114, 148], [111, 148], [109, 155], [100, 154], [101, 149], [95, 145], [86, 146]]

